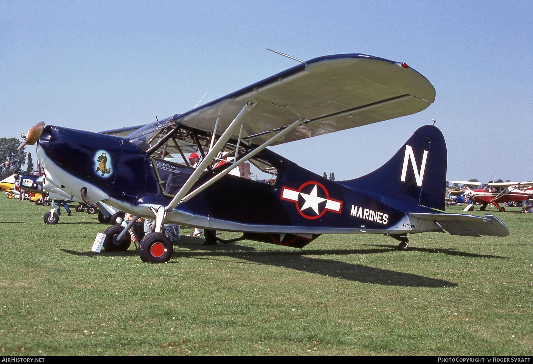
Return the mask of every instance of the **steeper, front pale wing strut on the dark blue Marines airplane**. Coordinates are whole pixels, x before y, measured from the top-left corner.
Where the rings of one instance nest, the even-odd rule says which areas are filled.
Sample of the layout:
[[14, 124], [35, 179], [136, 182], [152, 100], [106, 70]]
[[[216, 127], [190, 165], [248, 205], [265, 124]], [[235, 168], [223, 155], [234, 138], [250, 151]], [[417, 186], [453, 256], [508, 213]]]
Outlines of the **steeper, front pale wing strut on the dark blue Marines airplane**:
[[196, 167], [196, 170], [192, 172], [192, 175], [185, 181], [183, 186], [180, 188], [180, 191], [176, 193], [172, 201], [168, 204], [166, 211], [172, 210], [177, 206], [177, 204], [183, 199], [183, 197], [189, 192], [192, 185], [196, 183], [198, 178], [204, 173], [204, 170], [209, 167], [213, 159], [215, 159], [216, 155], [219, 154], [219, 152], [222, 150], [224, 145], [228, 142], [228, 140], [231, 138], [233, 133], [237, 131], [238, 128], [240, 128], [240, 125], [244, 122], [244, 118], [246, 115], [252, 110], [252, 108], [256, 104], [252, 101], [248, 101], [246, 105], [243, 107], [243, 109], [240, 110], [239, 114], [233, 119], [231, 124], [228, 126], [228, 129], [226, 129], [222, 135], [220, 136], [219, 140], [216, 141], [215, 145], [211, 150], [207, 153], [207, 155], [204, 157], [204, 159], [198, 164], [198, 167]]

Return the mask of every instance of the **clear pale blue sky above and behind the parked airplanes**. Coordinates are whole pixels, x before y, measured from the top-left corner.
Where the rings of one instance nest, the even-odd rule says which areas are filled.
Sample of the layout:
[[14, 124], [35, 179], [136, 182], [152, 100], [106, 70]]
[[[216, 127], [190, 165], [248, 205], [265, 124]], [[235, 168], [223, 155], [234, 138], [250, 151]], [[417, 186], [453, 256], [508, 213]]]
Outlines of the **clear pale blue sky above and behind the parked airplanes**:
[[[448, 179], [531, 180], [532, 2], [0, 1], [0, 137], [39, 121], [100, 131], [193, 108], [295, 65], [366, 53], [433, 84], [421, 113], [273, 151], [337, 179], [437, 119]], [[28, 152], [34, 148], [27, 148]]]

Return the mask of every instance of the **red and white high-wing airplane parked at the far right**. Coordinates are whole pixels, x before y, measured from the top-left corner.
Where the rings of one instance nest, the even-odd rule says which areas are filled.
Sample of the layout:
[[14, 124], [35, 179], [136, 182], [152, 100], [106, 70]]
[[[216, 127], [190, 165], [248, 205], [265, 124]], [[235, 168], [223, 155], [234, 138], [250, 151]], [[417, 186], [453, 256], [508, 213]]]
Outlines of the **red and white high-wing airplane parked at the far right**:
[[[491, 204], [502, 212], [505, 211], [505, 209], [500, 207], [500, 203], [528, 200], [531, 196], [528, 196], [528, 193], [522, 191], [520, 187], [533, 186], [533, 181], [494, 183], [450, 181], [450, 183], [465, 185], [467, 188], [464, 191], [465, 196], [474, 202], [480, 203], [481, 207], [479, 209], [481, 211], [484, 211], [487, 208], [487, 205]], [[468, 186], [477, 186], [478, 188], [471, 189]]]

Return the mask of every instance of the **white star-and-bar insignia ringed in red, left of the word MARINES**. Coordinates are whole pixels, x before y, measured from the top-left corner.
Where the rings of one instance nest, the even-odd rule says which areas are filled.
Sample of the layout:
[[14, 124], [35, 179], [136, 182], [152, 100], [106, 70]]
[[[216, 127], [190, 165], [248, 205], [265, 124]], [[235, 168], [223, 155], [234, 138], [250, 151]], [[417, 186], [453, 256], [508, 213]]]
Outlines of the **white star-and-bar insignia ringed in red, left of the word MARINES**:
[[298, 189], [282, 187], [281, 200], [293, 201], [306, 219], [318, 219], [326, 211], [341, 213], [342, 208], [342, 201], [330, 199], [326, 187], [315, 181], [306, 182]]

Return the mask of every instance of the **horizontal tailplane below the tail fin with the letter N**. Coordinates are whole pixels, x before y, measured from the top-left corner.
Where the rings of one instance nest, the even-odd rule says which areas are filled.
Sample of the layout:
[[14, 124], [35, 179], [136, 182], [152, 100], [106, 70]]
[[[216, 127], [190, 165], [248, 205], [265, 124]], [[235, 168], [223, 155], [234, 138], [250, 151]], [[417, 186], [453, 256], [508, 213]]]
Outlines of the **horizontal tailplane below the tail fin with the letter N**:
[[507, 236], [509, 230], [494, 215], [485, 217], [463, 215], [461, 213], [411, 212], [410, 216], [421, 220], [431, 220], [451, 235], [462, 236]]

